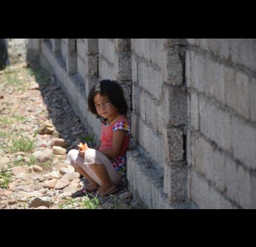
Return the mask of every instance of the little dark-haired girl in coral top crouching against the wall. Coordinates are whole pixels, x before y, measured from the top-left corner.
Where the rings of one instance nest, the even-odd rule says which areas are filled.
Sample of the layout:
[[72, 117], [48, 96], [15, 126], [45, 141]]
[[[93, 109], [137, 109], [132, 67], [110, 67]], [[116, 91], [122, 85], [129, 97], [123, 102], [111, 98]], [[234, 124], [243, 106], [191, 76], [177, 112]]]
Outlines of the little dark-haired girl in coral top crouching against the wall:
[[100, 81], [92, 88], [88, 106], [102, 122], [101, 145], [89, 148], [84, 143], [85, 149], [72, 149], [67, 160], [89, 181], [80, 193], [97, 191], [99, 196], [107, 196], [117, 191], [126, 173], [125, 154], [130, 136], [125, 118], [128, 106], [120, 84], [110, 80]]

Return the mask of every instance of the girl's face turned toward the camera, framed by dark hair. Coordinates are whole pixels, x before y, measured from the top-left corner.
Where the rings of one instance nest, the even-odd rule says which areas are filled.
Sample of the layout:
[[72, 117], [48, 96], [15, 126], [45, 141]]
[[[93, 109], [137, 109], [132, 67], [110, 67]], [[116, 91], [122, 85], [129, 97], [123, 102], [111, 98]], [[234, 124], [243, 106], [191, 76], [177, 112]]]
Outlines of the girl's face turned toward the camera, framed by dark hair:
[[94, 96], [94, 104], [99, 116], [103, 116], [108, 121], [113, 121], [119, 115], [118, 108], [111, 104], [108, 96], [96, 94]]

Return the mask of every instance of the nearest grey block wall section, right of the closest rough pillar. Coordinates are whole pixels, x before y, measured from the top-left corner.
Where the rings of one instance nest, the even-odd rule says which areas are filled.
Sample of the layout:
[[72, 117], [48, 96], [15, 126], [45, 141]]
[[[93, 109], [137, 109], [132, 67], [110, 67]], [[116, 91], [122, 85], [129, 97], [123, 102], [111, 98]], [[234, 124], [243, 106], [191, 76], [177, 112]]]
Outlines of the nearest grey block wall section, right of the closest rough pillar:
[[256, 208], [256, 40], [187, 42], [189, 199]]

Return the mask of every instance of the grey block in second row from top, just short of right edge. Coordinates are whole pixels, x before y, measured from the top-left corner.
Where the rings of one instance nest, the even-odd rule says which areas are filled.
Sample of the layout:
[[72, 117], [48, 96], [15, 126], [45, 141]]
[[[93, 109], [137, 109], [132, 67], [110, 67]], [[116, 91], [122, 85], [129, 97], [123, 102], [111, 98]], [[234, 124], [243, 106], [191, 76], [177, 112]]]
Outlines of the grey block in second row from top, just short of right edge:
[[250, 119], [250, 84], [249, 77], [234, 69], [225, 69], [225, 91], [227, 106], [241, 116]]

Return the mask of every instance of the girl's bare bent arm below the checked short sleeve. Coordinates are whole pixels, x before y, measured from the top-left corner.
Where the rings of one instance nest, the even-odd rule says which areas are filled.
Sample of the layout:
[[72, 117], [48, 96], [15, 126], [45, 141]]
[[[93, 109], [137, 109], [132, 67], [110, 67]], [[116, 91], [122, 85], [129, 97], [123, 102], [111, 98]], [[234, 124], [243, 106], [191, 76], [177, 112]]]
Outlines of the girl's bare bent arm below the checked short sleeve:
[[127, 131], [123, 129], [118, 129], [113, 133], [113, 148], [108, 148], [101, 150], [100, 152], [103, 153], [107, 158], [116, 158], [120, 155], [122, 151], [122, 144], [124, 143], [124, 136], [127, 134]]

